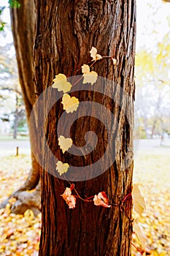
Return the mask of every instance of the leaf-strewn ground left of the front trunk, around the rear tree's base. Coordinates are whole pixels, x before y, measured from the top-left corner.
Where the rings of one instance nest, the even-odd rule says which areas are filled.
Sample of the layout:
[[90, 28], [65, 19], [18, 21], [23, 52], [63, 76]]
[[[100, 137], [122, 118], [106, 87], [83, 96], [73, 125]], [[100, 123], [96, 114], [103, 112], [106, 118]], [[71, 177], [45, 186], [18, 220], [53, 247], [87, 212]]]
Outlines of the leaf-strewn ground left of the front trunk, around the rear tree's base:
[[[30, 165], [28, 155], [1, 158], [0, 203], [23, 184]], [[24, 216], [15, 215], [10, 213], [9, 206], [8, 204], [7, 208], [0, 209], [0, 255], [38, 255], [41, 214], [36, 219], [29, 210]]]

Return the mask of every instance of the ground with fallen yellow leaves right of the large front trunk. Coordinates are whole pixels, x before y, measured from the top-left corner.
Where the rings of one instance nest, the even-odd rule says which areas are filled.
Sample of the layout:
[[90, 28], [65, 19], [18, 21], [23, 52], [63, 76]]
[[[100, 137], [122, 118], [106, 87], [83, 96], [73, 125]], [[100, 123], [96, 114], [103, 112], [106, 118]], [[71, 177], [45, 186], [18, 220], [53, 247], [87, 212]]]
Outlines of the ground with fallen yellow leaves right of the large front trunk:
[[[134, 183], [140, 185], [146, 211], [142, 217], [134, 214], [134, 219], [140, 223], [146, 238], [147, 252], [152, 256], [170, 255], [169, 158], [170, 147], [159, 146], [159, 143], [155, 146], [142, 145], [135, 158]], [[135, 236], [133, 242], [139, 246]], [[136, 249], [133, 252], [134, 255], [141, 255]]]

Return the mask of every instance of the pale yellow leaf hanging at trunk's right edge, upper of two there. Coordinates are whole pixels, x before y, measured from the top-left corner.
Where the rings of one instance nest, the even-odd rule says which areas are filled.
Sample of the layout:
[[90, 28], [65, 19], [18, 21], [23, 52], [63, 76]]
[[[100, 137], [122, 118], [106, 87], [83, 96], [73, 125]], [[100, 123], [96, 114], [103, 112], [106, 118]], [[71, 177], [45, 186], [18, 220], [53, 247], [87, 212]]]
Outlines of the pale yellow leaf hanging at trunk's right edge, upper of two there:
[[132, 190], [132, 197], [134, 201], [134, 210], [136, 211], [136, 213], [142, 216], [142, 212], [145, 210], [146, 206], [144, 202], [144, 197], [141, 195], [141, 192], [137, 184], [134, 184]]

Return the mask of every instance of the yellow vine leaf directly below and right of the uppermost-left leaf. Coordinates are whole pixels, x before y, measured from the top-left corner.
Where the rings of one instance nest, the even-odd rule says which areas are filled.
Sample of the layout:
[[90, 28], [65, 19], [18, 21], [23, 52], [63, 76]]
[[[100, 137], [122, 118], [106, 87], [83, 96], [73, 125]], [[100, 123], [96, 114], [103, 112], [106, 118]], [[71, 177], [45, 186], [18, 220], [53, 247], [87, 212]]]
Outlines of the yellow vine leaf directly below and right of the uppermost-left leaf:
[[66, 110], [66, 113], [73, 113], [79, 106], [79, 99], [70, 97], [69, 94], [63, 94], [61, 103], [63, 104], [63, 110]]

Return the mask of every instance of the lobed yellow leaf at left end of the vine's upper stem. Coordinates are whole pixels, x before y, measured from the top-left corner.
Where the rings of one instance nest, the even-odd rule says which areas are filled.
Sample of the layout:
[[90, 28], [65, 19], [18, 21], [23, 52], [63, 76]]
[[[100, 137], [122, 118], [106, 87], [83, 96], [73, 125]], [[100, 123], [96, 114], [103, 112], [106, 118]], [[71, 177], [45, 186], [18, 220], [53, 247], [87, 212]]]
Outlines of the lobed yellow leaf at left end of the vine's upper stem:
[[63, 91], [66, 93], [67, 91], [70, 91], [72, 84], [67, 82], [66, 75], [58, 74], [55, 75], [55, 78], [53, 79], [53, 88], [58, 89], [58, 91]]

